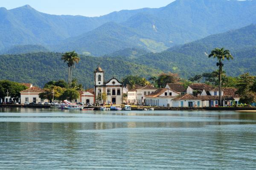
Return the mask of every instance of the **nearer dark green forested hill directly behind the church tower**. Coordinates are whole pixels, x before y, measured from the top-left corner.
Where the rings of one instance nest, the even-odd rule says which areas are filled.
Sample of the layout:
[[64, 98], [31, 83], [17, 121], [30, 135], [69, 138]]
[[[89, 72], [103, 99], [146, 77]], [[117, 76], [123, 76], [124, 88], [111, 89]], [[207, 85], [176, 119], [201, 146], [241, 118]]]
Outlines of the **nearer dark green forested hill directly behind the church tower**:
[[[66, 80], [68, 67], [61, 60], [61, 55], [54, 52], [0, 55], [0, 79], [29, 82], [40, 87], [51, 80]], [[105, 80], [116, 77], [121, 81], [126, 75], [150, 77], [160, 73], [159, 69], [111, 57], [81, 55], [80, 59], [76, 68], [72, 69], [72, 78], [77, 78], [85, 88], [93, 87], [93, 71], [98, 63], [105, 71]]]

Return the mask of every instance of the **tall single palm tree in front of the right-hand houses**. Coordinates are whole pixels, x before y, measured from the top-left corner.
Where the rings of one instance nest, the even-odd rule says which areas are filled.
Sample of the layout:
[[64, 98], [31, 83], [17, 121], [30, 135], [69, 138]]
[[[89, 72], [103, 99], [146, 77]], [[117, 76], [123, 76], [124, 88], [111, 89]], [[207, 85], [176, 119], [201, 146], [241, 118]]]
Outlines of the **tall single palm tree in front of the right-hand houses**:
[[211, 54], [209, 54], [208, 57], [217, 58], [218, 60], [216, 65], [219, 67], [218, 69], [219, 100], [220, 100], [219, 105], [221, 106], [221, 74], [222, 74], [222, 67], [224, 66], [222, 61], [224, 61], [224, 59], [227, 59], [227, 60], [233, 59], [233, 56], [230, 54], [229, 50], [225, 50], [224, 48], [215, 48], [214, 50], [212, 50]]

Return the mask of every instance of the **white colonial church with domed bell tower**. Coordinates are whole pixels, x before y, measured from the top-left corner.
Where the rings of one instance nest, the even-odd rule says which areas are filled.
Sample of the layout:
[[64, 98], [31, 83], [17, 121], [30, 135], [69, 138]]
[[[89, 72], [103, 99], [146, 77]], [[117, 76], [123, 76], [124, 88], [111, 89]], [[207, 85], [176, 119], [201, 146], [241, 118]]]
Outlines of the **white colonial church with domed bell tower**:
[[122, 104], [122, 94], [123, 86], [118, 79], [112, 78], [108, 82], [104, 82], [104, 71], [100, 66], [94, 71], [94, 94], [95, 94], [95, 103], [101, 103], [102, 101], [97, 101], [97, 96], [101, 93], [107, 95], [106, 104], [111, 103], [113, 105]]

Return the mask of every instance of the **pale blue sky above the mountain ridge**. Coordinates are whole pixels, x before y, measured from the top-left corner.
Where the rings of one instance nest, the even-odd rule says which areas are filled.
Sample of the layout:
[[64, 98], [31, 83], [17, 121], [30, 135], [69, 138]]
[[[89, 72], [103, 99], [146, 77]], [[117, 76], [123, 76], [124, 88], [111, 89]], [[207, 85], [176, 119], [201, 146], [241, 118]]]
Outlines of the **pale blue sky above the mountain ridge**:
[[0, 0], [7, 9], [29, 5], [47, 14], [96, 17], [122, 9], [160, 8], [175, 0]]

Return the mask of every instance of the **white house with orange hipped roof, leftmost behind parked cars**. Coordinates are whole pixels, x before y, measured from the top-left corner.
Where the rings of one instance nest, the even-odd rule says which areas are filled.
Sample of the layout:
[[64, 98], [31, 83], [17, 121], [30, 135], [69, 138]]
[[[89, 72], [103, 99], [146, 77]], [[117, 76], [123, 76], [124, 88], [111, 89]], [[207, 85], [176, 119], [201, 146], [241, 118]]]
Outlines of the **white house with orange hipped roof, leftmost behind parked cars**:
[[31, 87], [24, 91], [20, 91], [20, 104], [24, 104], [25, 102], [47, 102], [47, 99], [41, 99], [39, 94], [45, 92], [43, 89], [38, 87]]

